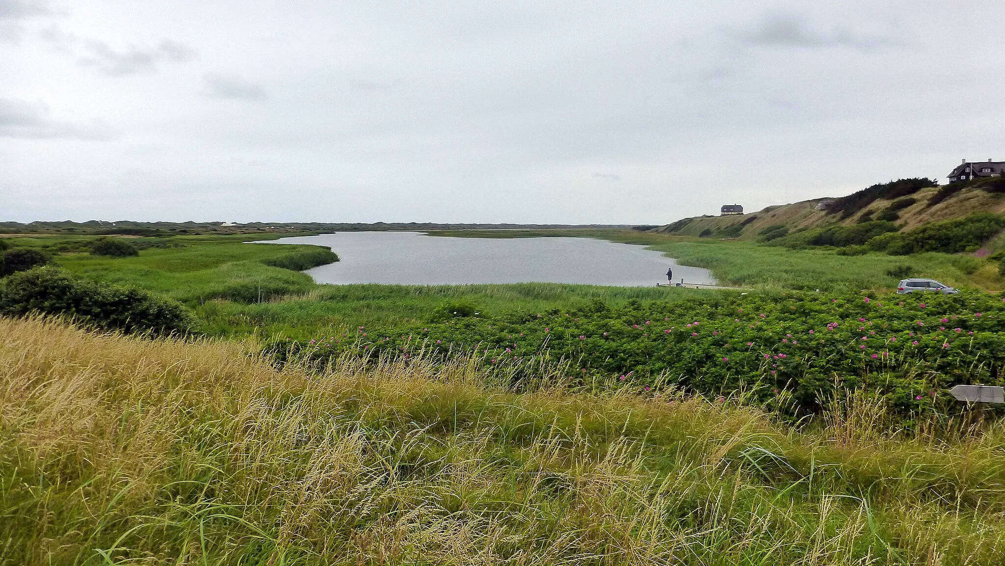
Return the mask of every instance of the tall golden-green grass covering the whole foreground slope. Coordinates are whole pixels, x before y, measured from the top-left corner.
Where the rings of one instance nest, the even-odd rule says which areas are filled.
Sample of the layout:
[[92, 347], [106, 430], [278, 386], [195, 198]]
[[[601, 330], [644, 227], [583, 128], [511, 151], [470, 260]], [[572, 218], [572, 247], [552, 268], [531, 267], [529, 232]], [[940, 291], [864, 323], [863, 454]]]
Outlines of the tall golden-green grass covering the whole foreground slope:
[[[57, 344], [58, 348], [53, 345]], [[0, 320], [0, 564], [1001, 564], [1005, 428]]]

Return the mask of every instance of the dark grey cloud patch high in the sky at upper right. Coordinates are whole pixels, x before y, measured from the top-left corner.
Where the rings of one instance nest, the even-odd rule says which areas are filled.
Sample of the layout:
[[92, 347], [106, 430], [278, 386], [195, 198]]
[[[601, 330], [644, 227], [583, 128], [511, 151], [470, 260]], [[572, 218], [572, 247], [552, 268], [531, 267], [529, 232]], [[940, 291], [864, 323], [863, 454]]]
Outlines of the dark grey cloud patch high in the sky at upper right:
[[741, 29], [728, 28], [731, 37], [751, 45], [774, 47], [850, 47], [863, 51], [891, 45], [887, 36], [856, 34], [843, 26], [830, 31], [814, 29], [801, 13], [789, 10], [770, 10], [761, 14], [753, 25]]

